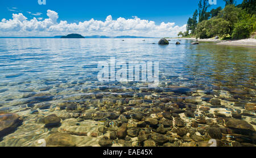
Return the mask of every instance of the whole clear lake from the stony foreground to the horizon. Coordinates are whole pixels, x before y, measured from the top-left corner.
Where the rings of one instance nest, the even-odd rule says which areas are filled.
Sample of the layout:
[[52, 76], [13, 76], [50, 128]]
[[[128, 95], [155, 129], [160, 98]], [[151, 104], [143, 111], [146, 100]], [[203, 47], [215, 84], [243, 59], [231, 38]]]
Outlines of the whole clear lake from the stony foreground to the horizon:
[[[0, 146], [256, 144], [255, 48], [122, 40], [0, 39], [0, 113], [20, 120], [0, 128]], [[111, 57], [159, 62], [158, 85], [99, 81], [98, 63]]]

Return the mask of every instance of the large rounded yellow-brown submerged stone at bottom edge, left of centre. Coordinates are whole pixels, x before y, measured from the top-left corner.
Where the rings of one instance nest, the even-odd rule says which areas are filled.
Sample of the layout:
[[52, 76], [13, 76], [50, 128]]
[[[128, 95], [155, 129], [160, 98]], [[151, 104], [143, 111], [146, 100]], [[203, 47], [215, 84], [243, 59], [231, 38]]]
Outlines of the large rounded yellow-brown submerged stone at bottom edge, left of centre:
[[47, 147], [75, 147], [73, 137], [69, 134], [56, 132], [46, 138]]

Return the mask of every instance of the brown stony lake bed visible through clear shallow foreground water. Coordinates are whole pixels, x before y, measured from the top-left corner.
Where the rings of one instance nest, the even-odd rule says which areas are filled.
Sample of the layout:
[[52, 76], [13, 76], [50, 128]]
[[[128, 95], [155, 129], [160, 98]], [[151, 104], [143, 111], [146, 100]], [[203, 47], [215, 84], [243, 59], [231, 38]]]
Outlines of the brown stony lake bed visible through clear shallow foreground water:
[[36, 146], [40, 139], [49, 146], [204, 147], [210, 139], [217, 146], [256, 144], [255, 90], [96, 89], [61, 103], [53, 97], [2, 110], [0, 145]]

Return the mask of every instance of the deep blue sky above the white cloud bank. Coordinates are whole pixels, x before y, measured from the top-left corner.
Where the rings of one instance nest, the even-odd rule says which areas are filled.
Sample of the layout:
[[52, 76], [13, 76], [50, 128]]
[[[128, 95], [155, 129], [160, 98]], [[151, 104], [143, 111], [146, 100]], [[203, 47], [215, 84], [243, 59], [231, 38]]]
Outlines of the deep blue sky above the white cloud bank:
[[[25, 16], [27, 18], [26, 20], [30, 20], [34, 17], [47, 19], [47, 10], [51, 10], [55, 11], [58, 15], [57, 23], [59, 23], [60, 20], [66, 20], [67, 23], [78, 24], [79, 22], [89, 21], [92, 18], [105, 22], [106, 17], [111, 15], [113, 20], [119, 17], [133, 19], [134, 16], [137, 16], [141, 20], [154, 21], [156, 26], [164, 22], [166, 24], [175, 23], [172, 27], [182, 27], [187, 23], [189, 16], [192, 16], [193, 11], [197, 9], [198, 2], [199, 0], [46, 0], [46, 5], [39, 5], [38, 0], [1, 0], [0, 19], [13, 19], [13, 14], [18, 13]], [[242, 0], [238, 0], [237, 4], [241, 2]], [[224, 5], [225, 3], [222, 0], [217, 0], [217, 5], [212, 5], [210, 9], [218, 6], [224, 7]], [[180, 29], [182, 30], [184, 28]], [[93, 28], [92, 30], [95, 31], [96, 29]], [[89, 34], [90, 32], [88, 31], [89, 30], [85, 31], [85, 33]], [[135, 34], [135, 32], [133, 33]], [[51, 34], [54, 33], [51, 32]]]

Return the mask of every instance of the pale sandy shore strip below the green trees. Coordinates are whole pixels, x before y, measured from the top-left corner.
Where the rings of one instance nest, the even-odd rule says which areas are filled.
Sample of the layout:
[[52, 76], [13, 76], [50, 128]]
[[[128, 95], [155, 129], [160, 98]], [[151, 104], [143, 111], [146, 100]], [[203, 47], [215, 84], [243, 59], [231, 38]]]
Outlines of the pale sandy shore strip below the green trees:
[[[196, 40], [196, 38], [170, 38], [170, 39], [184, 39], [184, 40]], [[198, 41], [211, 41], [217, 42], [217, 45], [229, 45], [229, 46], [243, 46], [243, 47], [256, 47], [256, 39], [242, 39], [242, 40], [218, 40], [218, 39], [198, 39]]]

